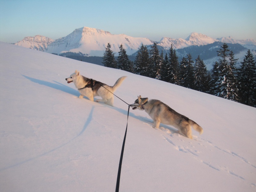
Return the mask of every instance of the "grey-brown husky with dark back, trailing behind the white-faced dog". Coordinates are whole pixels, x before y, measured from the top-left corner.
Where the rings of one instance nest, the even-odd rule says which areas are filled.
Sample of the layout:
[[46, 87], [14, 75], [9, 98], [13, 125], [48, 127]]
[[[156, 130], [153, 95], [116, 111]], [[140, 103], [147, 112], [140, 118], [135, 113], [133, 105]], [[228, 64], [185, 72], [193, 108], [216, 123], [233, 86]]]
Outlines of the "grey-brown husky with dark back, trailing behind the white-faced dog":
[[200, 135], [203, 133], [203, 128], [195, 121], [177, 113], [159, 100], [148, 100], [148, 98], [141, 98], [141, 96], [138, 96], [138, 99], [135, 100], [131, 106], [133, 106], [132, 109], [145, 110], [154, 121], [153, 128], [159, 128], [160, 123], [173, 125], [179, 132], [190, 139], [193, 139], [191, 126], [198, 131]]

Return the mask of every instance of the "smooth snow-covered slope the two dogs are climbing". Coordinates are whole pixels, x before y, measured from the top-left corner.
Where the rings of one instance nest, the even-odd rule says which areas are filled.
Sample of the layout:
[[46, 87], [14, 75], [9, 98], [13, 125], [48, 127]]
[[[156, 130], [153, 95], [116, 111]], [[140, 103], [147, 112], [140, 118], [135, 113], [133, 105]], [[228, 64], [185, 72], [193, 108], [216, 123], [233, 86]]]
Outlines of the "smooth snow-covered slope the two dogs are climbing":
[[256, 108], [125, 71], [0, 42], [4, 192], [114, 191], [128, 106], [78, 99], [75, 69], [133, 103], [158, 99], [201, 125], [194, 139], [130, 109], [120, 191], [255, 191]]

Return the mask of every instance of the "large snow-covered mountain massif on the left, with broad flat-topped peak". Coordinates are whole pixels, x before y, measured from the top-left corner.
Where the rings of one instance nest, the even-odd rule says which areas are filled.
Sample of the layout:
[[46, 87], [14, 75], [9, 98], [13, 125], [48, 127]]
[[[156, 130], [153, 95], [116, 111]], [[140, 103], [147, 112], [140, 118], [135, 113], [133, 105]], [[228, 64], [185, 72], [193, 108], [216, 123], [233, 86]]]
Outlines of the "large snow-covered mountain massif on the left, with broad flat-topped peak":
[[22, 44], [20, 42], [16, 44], [23, 46], [28, 41], [25, 45], [27, 45], [26, 47], [30, 45], [29, 48], [31, 49], [43, 46], [44, 49], [41, 51], [48, 53], [82, 52], [87, 56], [103, 56], [108, 43], [111, 44], [113, 52], [119, 52], [119, 46], [123, 44], [123, 48], [128, 55], [138, 51], [141, 44], [153, 44], [153, 41], [148, 38], [131, 37], [124, 34], [113, 35], [108, 31], [88, 27], [75, 29], [68, 36], [59, 38], [51, 43], [31, 41], [31, 39], [25, 37], [21, 41]]

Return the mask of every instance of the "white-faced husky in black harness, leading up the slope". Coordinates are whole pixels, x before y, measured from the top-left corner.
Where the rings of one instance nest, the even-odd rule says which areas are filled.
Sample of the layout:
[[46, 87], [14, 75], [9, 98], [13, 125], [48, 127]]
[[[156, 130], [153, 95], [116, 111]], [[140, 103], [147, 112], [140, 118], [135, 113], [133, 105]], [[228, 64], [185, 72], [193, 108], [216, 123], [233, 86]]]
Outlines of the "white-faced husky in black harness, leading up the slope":
[[[102, 99], [96, 100], [96, 102], [102, 101], [113, 107], [114, 95], [113, 93], [122, 84], [126, 76], [122, 76], [117, 79], [113, 86], [89, 79], [80, 75], [79, 71], [71, 74], [70, 77], [66, 78], [68, 83], [73, 82], [80, 92], [79, 98], [88, 97], [89, 100], [93, 101], [93, 97], [100, 96]], [[112, 92], [112, 93], [111, 93]]]

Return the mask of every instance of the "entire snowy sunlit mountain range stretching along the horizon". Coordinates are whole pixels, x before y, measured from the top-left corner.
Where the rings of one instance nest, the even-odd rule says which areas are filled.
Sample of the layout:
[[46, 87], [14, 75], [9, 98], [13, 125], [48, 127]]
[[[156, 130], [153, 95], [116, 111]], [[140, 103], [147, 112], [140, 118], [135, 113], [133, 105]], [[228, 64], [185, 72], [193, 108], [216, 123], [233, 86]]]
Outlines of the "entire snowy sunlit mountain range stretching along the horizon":
[[[179, 49], [191, 45], [212, 44], [218, 41], [222, 43], [238, 43], [243, 46], [250, 46], [250, 48], [256, 47], [256, 41], [253, 39], [234, 40], [230, 36], [213, 39], [196, 32], [191, 33], [186, 39], [163, 37], [156, 43], [168, 50], [171, 44], [174, 49]], [[123, 44], [123, 48], [126, 50], [127, 54], [132, 55], [139, 50], [141, 44], [151, 45], [155, 43], [155, 41], [145, 37], [132, 37], [125, 34], [114, 35], [101, 29], [83, 27], [77, 28], [67, 36], [56, 40], [36, 35], [33, 37], [25, 37], [23, 40], [15, 43], [15, 45], [48, 53], [82, 52], [87, 56], [103, 56], [108, 43], [111, 44], [111, 50], [113, 50], [114, 53], [119, 52], [119, 46]]]

